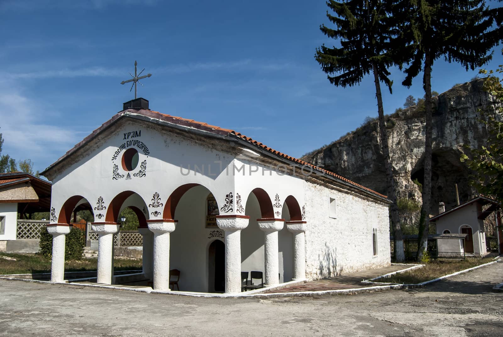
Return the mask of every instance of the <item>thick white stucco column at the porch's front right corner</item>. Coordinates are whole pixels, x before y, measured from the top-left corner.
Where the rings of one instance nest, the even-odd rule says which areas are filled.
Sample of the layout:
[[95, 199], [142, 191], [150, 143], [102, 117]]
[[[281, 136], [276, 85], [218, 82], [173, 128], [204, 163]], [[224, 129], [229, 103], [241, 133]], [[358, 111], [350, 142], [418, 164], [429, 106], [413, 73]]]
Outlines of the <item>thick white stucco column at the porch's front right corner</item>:
[[244, 215], [217, 215], [217, 226], [225, 232], [225, 293], [241, 292], [241, 230], [248, 226]]

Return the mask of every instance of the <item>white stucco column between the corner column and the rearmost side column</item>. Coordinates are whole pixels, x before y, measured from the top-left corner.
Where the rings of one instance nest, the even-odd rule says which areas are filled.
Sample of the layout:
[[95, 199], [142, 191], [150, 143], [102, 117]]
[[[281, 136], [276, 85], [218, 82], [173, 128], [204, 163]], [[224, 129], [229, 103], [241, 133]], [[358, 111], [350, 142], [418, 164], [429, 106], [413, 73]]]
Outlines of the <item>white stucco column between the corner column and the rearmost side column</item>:
[[259, 228], [264, 231], [264, 262], [266, 286], [276, 286], [279, 279], [278, 231], [285, 225], [285, 219], [257, 219]]

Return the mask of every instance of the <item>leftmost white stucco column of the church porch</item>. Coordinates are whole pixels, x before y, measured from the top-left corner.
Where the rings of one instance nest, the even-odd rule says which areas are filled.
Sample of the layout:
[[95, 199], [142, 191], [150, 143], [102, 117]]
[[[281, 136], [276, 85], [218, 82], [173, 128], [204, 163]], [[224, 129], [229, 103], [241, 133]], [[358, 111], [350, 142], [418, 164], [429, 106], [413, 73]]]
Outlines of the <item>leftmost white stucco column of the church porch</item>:
[[52, 234], [51, 281], [64, 281], [64, 250], [66, 234], [70, 233], [67, 224], [49, 224], [47, 232]]

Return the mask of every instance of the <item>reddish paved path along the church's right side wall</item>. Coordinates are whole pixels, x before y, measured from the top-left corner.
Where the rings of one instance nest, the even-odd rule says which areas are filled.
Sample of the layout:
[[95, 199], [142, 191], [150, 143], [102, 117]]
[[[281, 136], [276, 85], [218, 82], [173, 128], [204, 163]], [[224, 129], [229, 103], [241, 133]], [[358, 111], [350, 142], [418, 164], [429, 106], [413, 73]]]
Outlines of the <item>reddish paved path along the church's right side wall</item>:
[[296, 291], [323, 291], [370, 287], [369, 285], [362, 284], [361, 281], [373, 279], [388, 273], [401, 271], [402, 269], [406, 269], [411, 266], [412, 264], [392, 264], [389, 267], [369, 269], [368, 271], [350, 273], [322, 280], [311, 281], [287, 288], [269, 290], [265, 293], [291, 293]]

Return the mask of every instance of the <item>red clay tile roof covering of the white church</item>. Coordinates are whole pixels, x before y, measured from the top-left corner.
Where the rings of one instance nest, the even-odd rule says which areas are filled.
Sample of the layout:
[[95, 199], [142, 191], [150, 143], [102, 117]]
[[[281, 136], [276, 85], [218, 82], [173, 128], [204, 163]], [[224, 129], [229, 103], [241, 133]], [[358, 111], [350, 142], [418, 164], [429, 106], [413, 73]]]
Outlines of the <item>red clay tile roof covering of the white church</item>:
[[232, 129], [226, 129], [226, 128], [222, 128], [222, 127], [219, 127], [219, 126], [215, 126], [215, 125], [210, 125], [208, 123], [204, 123], [204, 122], [199, 122], [199, 121], [196, 121], [194, 119], [187, 119], [187, 118], [183, 118], [183, 117], [178, 117], [178, 116], [172, 116], [172, 115], [168, 115], [168, 114], [165, 114], [165, 113], [161, 113], [161, 112], [158, 112], [158, 111], [152, 111], [152, 110], [144, 110], [144, 109], [126, 109], [126, 110], [123, 110], [123, 111], [120, 111], [118, 112], [116, 115], [114, 115], [111, 119], [109, 119], [108, 121], [106, 121], [105, 123], [103, 123], [100, 127], [98, 127], [96, 130], [94, 130], [88, 137], [86, 137], [85, 139], [83, 139], [80, 143], [76, 144], [72, 149], [70, 149], [69, 151], [66, 152], [65, 155], [63, 155], [61, 158], [59, 158], [55, 163], [53, 163], [51, 166], [49, 166], [47, 169], [44, 170], [44, 172], [41, 172], [41, 174], [43, 175], [50, 167], [54, 166], [56, 163], [60, 162], [61, 160], [63, 160], [65, 157], [67, 157], [68, 155], [70, 155], [72, 152], [76, 151], [78, 148], [80, 148], [83, 144], [87, 143], [89, 140], [91, 140], [93, 137], [95, 137], [98, 133], [100, 133], [103, 129], [105, 129], [106, 127], [108, 127], [110, 124], [112, 124], [117, 118], [121, 117], [122, 115], [124, 115], [126, 112], [132, 112], [132, 113], [137, 113], [137, 114], [141, 114], [143, 116], [146, 116], [146, 117], [150, 117], [150, 118], [156, 118], [156, 119], [159, 119], [159, 120], [162, 120], [162, 121], [166, 121], [166, 122], [170, 122], [170, 123], [173, 123], [173, 124], [177, 124], [177, 125], [182, 125], [182, 126], [189, 126], [191, 128], [195, 128], [195, 129], [199, 129], [199, 130], [202, 130], [202, 131], [207, 131], [207, 132], [211, 132], [211, 133], [215, 133], [215, 134], [220, 134], [220, 135], [226, 135], [226, 134], [233, 134], [235, 137], [251, 144], [251, 145], [254, 145], [256, 147], [259, 147], [259, 148], [262, 148], [264, 150], [267, 150], [275, 155], [278, 155], [278, 156], [281, 156], [285, 159], [288, 159], [288, 160], [291, 160], [297, 164], [300, 164], [300, 165], [306, 165], [306, 166], [309, 166], [311, 167], [313, 170], [315, 171], [318, 171], [318, 172], [321, 172], [321, 173], [324, 173], [324, 174], [328, 174], [332, 177], [335, 177], [337, 179], [340, 179], [344, 182], [347, 182], [351, 185], [354, 185], [356, 187], [359, 187], [361, 189], [364, 189], [366, 191], [369, 191], [373, 194], [376, 194], [376, 195], [379, 195], [383, 198], [388, 198], [386, 195], [384, 194], [381, 194], [381, 193], [378, 193], [368, 187], [365, 187], [365, 186], [362, 186], [360, 184], [357, 184], [356, 182], [354, 181], [351, 181], [345, 177], [342, 177], [340, 176], [339, 174], [336, 174], [336, 173], [333, 173], [333, 172], [330, 172], [330, 171], [327, 171], [325, 169], [322, 169], [321, 167], [317, 167], [317, 166], [314, 166], [313, 164], [311, 163], [307, 163], [307, 162], [304, 162], [300, 159], [297, 159], [297, 158], [294, 158], [294, 157], [291, 157], [291, 156], [288, 156], [284, 153], [281, 153], [279, 151], [276, 151], [252, 138], [249, 138], [249, 137], [246, 137], [244, 136], [244, 134], [242, 133], [239, 133], [239, 132], [236, 132]]

